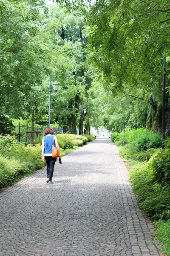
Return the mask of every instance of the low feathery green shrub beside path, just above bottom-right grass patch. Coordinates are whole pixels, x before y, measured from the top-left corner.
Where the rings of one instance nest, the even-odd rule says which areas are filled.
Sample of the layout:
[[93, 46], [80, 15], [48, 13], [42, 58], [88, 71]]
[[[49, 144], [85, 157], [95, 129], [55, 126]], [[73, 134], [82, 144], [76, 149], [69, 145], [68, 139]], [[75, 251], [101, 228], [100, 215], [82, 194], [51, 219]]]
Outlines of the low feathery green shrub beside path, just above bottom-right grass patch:
[[161, 187], [153, 181], [153, 170], [148, 163], [140, 164], [130, 170], [133, 183], [140, 202], [140, 207], [151, 218], [168, 220], [170, 218], [170, 187]]

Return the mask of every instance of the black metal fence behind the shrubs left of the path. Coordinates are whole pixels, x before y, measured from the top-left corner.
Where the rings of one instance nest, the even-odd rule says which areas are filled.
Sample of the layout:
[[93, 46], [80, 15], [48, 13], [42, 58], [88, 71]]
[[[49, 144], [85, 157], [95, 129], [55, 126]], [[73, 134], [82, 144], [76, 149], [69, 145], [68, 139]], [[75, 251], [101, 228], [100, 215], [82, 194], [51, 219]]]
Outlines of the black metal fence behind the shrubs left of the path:
[[[27, 125], [21, 125], [21, 123], [19, 123], [18, 125], [15, 125], [14, 128], [10, 127], [10, 133], [11, 135], [15, 135], [15, 137], [17, 137], [17, 140], [19, 140], [20, 142], [24, 142], [27, 144], [31, 143], [31, 132], [33, 132], [34, 134], [34, 143], [41, 143], [42, 141], [42, 136], [43, 133], [45, 131], [45, 129], [48, 126], [34, 126], [34, 132], [31, 131], [31, 126]], [[57, 128], [55, 126], [51, 126], [51, 128], [54, 130], [54, 134], [62, 134], [62, 133], [73, 133], [70, 132], [69, 129], [64, 129], [64, 128]], [[79, 134], [79, 130], [77, 129], [77, 134]]]

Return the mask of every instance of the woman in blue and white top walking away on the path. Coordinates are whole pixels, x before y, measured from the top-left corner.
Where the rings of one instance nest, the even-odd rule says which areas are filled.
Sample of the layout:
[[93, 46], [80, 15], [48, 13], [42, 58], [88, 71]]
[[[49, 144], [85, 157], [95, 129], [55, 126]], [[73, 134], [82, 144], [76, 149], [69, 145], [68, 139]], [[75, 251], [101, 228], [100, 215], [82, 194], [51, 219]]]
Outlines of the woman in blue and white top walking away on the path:
[[[42, 139], [42, 161], [47, 163], [47, 183], [52, 184], [52, 177], [54, 172], [54, 165], [57, 158], [52, 157], [52, 145], [54, 142], [54, 146], [58, 147], [57, 137], [54, 135], [54, 130], [51, 127], [48, 127], [44, 131], [44, 136]], [[61, 159], [59, 157], [59, 162]]]

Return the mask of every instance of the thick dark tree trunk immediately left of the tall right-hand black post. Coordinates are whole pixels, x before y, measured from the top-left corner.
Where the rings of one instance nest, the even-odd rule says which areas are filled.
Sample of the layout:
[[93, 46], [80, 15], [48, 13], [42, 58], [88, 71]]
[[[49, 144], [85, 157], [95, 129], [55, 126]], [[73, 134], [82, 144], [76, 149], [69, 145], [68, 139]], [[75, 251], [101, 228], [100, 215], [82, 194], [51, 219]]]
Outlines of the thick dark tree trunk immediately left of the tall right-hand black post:
[[155, 104], [155, 110], [153, 111], [153, 131], [162, 131], [162, 105]]

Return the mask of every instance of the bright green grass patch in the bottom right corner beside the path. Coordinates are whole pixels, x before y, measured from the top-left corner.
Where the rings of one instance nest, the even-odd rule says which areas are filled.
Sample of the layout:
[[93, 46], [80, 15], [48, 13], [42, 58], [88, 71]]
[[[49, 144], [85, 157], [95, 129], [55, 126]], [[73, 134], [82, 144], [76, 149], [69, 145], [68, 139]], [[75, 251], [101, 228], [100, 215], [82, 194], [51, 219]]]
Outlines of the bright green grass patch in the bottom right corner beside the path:
[[170, 220], [167, 221], [154, 221], [154, 226], [156, 226], [156, 235], [159, 240], [161, 240], [161, 245], [163, 246], [163, 252], [167, 256], [170, 256]]

